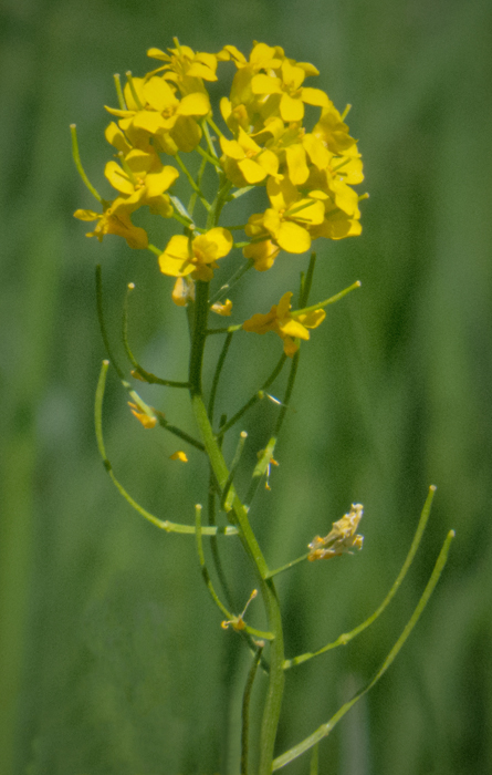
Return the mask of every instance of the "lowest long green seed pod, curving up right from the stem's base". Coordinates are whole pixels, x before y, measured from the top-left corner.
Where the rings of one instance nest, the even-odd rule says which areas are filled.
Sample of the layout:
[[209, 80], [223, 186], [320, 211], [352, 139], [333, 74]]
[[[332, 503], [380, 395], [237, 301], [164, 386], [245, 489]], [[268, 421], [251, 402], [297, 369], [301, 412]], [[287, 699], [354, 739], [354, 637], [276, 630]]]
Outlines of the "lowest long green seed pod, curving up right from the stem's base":
[[400, 637], [398, 638], [397, 642], [392, 647], [391, 651], [383, 662], [381, 666], [377, 671], [377, 673], [374, 675], [374, 678], [367, 683], [355, 696], [352, 698], [348, 702], [346, 702], [336, 713], [332, 719], [326, 723], [322, 724], [313, 734], [311, 734], [308, 737], [303, 740], [301, 743], [295, 745], [294, 747], [290, 748], [290, 751], [286, 751], [284, 754], [281, 756], [278, 756], [275, 760], [273, 760], [273, 765], [272, 765], [272, 772], [276, 772], [276, 769], [281, 769], [284, 767], [286, 764], [290, 764], [290, 762], [293, 762], [297, 756], [301, 756], [303, 753], [308, 751], [310, 748], [313, 747], [313, 745], [316, 745], [323, 737], [326, 737], [332, 730], [336, 726], [336, 724], [339, 722], [339, 720], [355, 705], [355, 703], [360, 700], [367, 692], [369, 692], [373, 686], [379, 681], [379, 679], [386, 673], [390, 664], [395, 661], [397, 654], [401, 650], [402, 645], [407, 641], [410, 632], [417, 624], [418, 620], [420, 619], [420, 616], [422, 614], [423, 609], [426, 608], [430, 596], [432, 595], [437, 582], [439, 581], [439, 578], [442, 574], [442, 570], [444, 568], [446, 561], [448, 559], [448, 554], [449, 549], [451, 546], [451, 541], [454, 538], [454, 530], [450, 530], [448, 533], [448, 536], [444, 540], [444, 544], [442, 545], [442, 549], [439, 552], [439, 557], [436, 561], [435, 568], [432, 570], [432, 574], [430, 576], [430, 579], [427, 583], [426, 589], [423, 590], [423, 595], [421, 596], [414, 613], [411, 614], [409, 621], [407, 622], [404, 631], [401, 632]]

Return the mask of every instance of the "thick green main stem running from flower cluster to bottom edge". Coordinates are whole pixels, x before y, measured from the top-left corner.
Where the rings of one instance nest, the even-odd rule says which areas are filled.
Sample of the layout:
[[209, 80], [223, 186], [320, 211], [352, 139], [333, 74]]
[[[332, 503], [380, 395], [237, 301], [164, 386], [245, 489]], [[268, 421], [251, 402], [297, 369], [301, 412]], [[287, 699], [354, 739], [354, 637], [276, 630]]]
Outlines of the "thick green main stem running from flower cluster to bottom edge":
[[[209, 309], [208, 290], [208, 282], [201, 282], [200, 280], [197, 282], [195, 309], [191, 321], [189, 390], [191, 405], [200, 431], [201, 441], [203, 442], [219, 487], [223, 489], [229, 477], [229, 469], [219, 444], [213, 435], [212, 426], [203, 403], [201, 388], [201, 366], [203, 361]], [[276, 728], [279, 725], [284, 686], [282, 618], [279, 598], [273, 580], [271, 578], [265, 578], [269, 572], [269, 567], [251, 529], [251, 525], [248, 519], [248, 509], [238, 497], [233, 485], [230, 488], [230, 495], [232, 496], [232, 512], [230, 513], [230, 517], [239, 527], [239, 537], [248, 557], [253, 565], [258, 586], [263, 597], [266, 611], [268, 629], [274, 634], [274, 640], [271, 641], [270, 644], [269, 689], [263, 710], [259, 766], [259, 775], [271, 775]]]

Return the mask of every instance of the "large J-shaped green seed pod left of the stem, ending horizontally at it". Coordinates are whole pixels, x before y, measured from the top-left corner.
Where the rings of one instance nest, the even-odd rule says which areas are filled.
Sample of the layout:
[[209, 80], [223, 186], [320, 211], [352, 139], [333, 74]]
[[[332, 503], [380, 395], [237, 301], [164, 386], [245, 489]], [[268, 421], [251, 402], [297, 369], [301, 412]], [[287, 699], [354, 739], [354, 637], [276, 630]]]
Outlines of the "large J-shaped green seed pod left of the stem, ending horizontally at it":
[[[101, 457], [103, 459], [103, 464], [105, 469], [107, 471], [113, 484], [115, 485], [116, 489], [123, 495], [125, 500], [134, 508], [140, 516], [143, 516], [147, 521], [151, 523], [156, 527], [159, 527], [160, 529], [165, 530], [166, 533], [180, 533], [185, 535], [195, 535], [195, 526], [193, 525], [180, 525], [178, 523], [171, 523], [168, 519], [159, 519], [158, 517], [154, 516], [154, 514], [150, 514], [150, 512], [147, 512], [143, 506], [140, 506], [130, 495], [127, 493], [127, 490], [124, 488], [124, 486], [118, 482], [116, 478], [114, 472], [113, 472], [113, 466], [107, 457], [106, 454], [106, 447], [104, 444], [104, 436], [103, 436], [103, 401], [104, 401], [104, 390], [106, 385], [106, 375], [107, 375], [107, 370], [109, 368], [109, 361], [103, 361], [103, 365], [101, 369], [101, 374], [100, 379], [97, 381], [97, 389], [96, 389], [96, 395], [95, 395], [95, 404], [94, 404], [94, 422], [95, 422], [95, 432], [96, 432], [96, 440], [97, 440], [97, 448], [100, 451]], [[216, 526], [208, 526], [202, 529], [202, 534], [207, 536], [237, 536], [238, 530], [235, 527], [216, 527]]]

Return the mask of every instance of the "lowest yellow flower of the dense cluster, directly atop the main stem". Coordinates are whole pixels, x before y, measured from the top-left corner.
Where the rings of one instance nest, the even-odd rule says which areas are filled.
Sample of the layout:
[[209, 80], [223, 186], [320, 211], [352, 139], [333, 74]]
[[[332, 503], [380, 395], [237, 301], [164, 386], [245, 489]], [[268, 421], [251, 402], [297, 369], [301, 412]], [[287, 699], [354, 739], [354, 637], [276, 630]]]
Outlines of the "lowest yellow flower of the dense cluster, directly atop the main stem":
[[220, 226], [195, 239], [175, 235], [159, 256], [160, 271], [171, 277], [193, 272], [196, 280], [207, 282], [213, 277], [212, 270], [218, 268], [216, 261], [230, 252], [232, 244], [231, 232]]

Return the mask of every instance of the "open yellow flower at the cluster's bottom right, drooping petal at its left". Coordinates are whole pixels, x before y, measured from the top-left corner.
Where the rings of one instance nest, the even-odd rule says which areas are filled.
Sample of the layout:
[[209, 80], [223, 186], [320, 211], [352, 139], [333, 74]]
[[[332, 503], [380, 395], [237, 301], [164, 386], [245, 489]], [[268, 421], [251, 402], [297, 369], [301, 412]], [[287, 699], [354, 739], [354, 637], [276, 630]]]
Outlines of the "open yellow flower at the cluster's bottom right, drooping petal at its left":
[[[311, 227], [322, 224], [325, 216], [323, 204], [303, 198], [285, 176], [270, 177], [266, 192], [272, 207], [263, 214], [252, 215], [244, 229], [255, 241], [247, 246], [243, 254], [255, 265], [258, 261], [261, 268], [265, 262], [262, 236], [287, 252], [305, 252], [311, 247]], [[266, 251], [273, 254], [269, 248]]]

